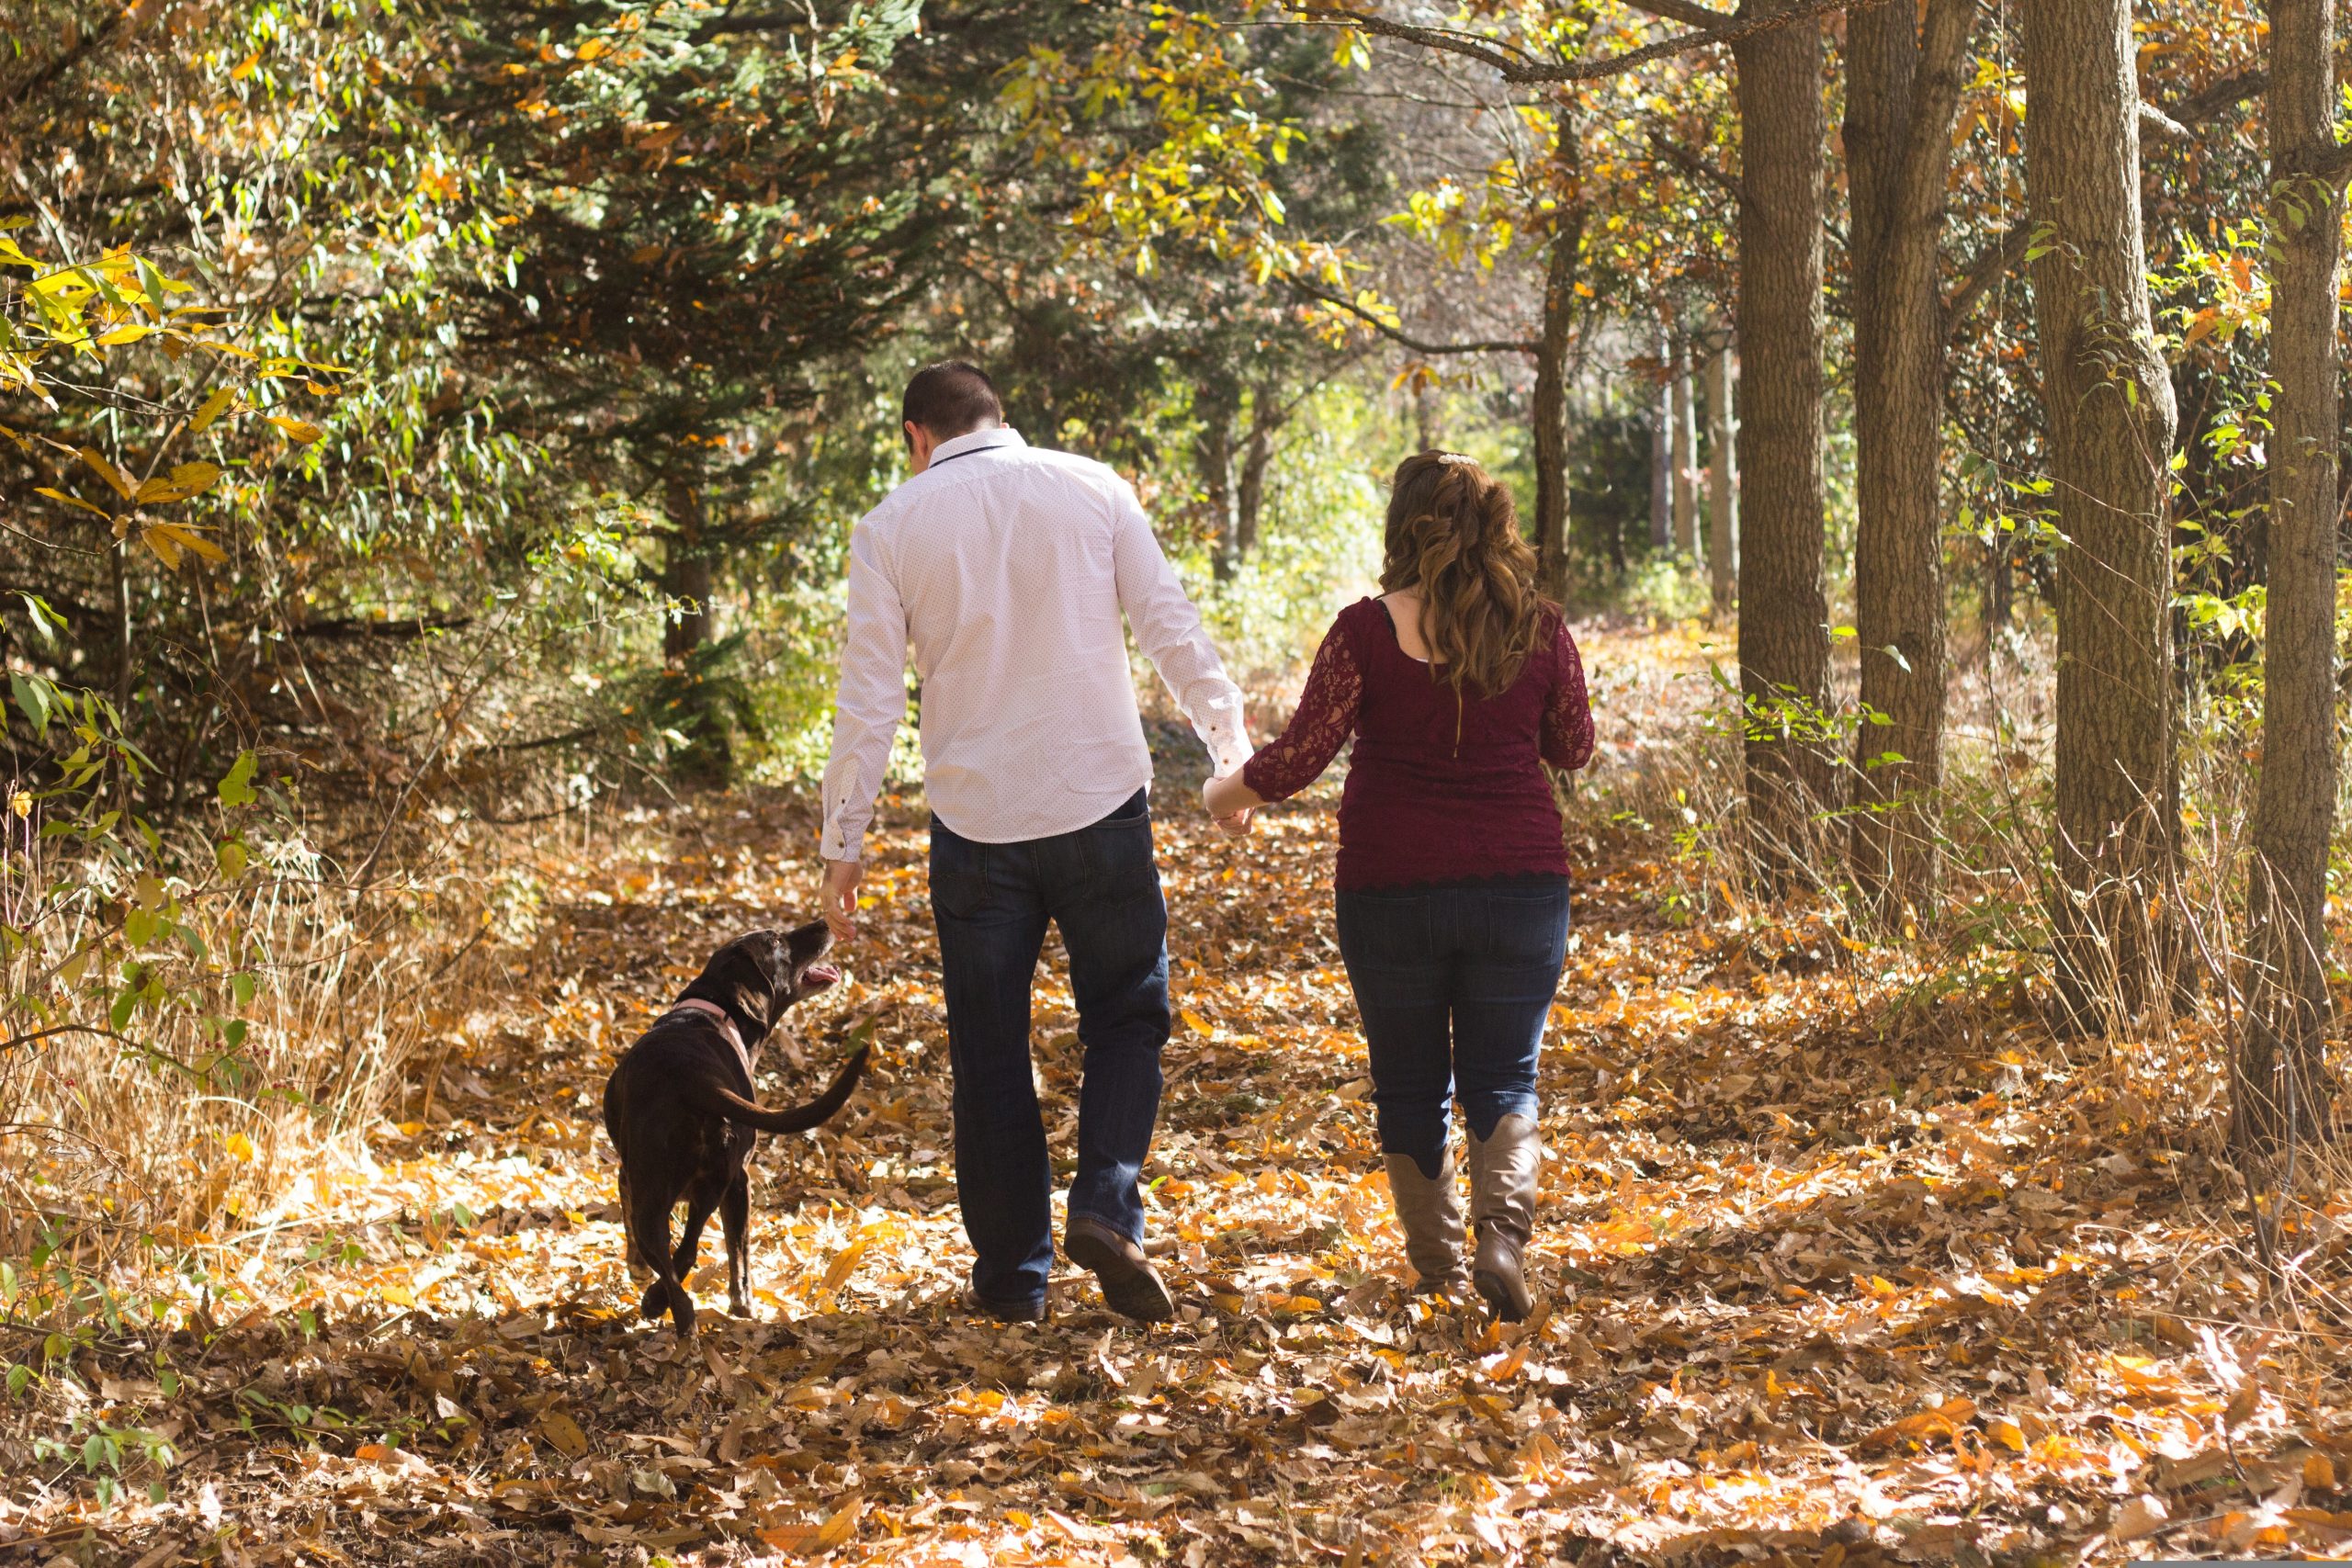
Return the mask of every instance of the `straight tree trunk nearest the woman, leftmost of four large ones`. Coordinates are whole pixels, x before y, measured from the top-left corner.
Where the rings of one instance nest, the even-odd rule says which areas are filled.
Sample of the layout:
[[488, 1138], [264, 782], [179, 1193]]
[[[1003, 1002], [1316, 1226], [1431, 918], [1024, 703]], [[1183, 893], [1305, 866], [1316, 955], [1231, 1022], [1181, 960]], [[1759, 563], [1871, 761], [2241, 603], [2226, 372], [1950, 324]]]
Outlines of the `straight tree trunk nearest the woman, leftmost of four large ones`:
[[[1764, 7], [1788, 9], [1788, 0]], [[1828, 797], [1816, 715], [1828, 698], [1820, 583], [1820, 24], [1792, 21], [1731, 47], [1740, 106], [1740, 696], [1748, 813], [1773, 879], [1802, 853]]]

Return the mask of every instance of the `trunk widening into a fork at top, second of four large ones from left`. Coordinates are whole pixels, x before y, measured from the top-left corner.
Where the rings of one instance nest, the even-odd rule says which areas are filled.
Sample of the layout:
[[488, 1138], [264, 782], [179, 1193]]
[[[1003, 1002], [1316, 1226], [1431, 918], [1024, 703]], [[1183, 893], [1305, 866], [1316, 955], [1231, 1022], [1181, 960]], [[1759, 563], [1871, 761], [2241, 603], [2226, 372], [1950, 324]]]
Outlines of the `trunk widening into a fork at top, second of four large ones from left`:
[[[2039, 0], [2037, 0], [2039, 2]], [[1943, 294], [1938, 252], [1952, 115], [1973, 0], [1846, 21], [1853, 207], [1853, 621], [1863, 724], [1853, 738], [1853, 875], [1889, 907], [1936, 877], [1943, 783]]]

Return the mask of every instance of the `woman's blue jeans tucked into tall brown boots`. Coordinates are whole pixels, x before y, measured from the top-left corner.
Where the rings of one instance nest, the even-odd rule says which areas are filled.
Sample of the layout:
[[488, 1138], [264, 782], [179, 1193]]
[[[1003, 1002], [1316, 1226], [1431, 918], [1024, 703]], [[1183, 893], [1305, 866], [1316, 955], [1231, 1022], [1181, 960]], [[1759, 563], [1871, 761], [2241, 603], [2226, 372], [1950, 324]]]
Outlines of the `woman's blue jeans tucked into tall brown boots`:
[[1454, 1098], [1479, 1138], [1536, 1114], [1536, 1051], [1566, 947], [1566, 877], [1338, 893], [1383, 1154], [1411, 1154], [1435, 1178]]

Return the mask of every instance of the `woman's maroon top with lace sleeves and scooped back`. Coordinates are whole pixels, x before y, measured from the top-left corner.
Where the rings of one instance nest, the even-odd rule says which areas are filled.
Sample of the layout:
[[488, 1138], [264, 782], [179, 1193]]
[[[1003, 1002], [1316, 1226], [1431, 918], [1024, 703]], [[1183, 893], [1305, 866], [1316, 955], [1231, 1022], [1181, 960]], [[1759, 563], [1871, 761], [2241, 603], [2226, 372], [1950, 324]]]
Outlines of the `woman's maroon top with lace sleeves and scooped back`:
[[1592, 759], [1592, 708], [1566, 623], [1545, 614], [1543, 628], [1508, 691], [1456, 696], [1397, 646], [1378, 599], [1357, 599], [1324, 635], [1298, 712], [1249, 759], [1242, 780], [1265, 799], [1287, 799], [1355, 736], [1338, 802], [1341, 889], [1566, 877], [1543, 764], [1581, 769]]

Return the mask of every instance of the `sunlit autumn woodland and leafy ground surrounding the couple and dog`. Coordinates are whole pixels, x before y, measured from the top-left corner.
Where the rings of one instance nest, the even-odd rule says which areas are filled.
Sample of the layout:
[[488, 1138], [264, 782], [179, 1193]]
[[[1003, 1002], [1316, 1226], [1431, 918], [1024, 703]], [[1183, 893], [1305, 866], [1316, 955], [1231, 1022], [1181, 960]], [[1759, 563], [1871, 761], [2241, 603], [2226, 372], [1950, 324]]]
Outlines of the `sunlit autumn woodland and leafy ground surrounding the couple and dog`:
[[[2340, 59], [2326, 0], [14, 0], [0, 1552], [2340, 1552]], [[1261, 736], [1397, 456], [1517, 489], [1602, 724], [1534, 1324], [1402, 1295], [1329, 790], [1214, 842], [1164, 712], [1185, 1321], [953, 1312], [910, 748], [762, 1321], [626, 1321], [593, 1091], [811, 903], [946, 355], [1136, 480]]]

